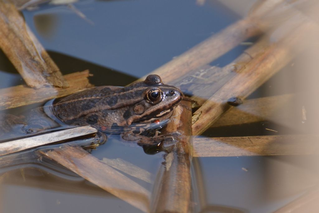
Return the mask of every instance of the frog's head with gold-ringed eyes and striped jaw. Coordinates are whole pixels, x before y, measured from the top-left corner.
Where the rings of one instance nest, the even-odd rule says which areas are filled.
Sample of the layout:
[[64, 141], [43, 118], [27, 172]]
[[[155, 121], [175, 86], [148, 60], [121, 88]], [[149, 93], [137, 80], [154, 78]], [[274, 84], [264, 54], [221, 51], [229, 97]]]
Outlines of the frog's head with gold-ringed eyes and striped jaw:
[[127, 125], [167, 119], [183, 98], [181, 90], [163, 84], [158, 75], [148, 75], [144, 82], [139, 82], [139, 86], [146, 88], [141, 94], [143, 99], [130, 107]]

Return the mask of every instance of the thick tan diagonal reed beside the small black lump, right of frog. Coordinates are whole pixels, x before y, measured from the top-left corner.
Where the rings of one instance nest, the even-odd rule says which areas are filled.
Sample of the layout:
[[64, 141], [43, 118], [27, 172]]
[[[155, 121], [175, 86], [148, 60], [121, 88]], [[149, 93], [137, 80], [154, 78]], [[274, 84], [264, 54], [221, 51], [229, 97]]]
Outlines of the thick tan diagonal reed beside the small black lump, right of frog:
[[227, 100], [246, 98], [292, 59], [288, 48], [272, 44], [258, 51], [260, 54], [208, 99], [193, 115], [193, 134], [200, 135], [224, 112], [230, 109]]

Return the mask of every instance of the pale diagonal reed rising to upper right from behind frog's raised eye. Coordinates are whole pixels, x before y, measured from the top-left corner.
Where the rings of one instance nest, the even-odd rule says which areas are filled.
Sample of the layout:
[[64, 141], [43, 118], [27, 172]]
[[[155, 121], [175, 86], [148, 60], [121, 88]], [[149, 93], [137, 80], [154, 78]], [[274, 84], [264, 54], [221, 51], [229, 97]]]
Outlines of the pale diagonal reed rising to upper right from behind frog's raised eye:
[[[157, 68], [151, 74], [161, 76], [165, 83], [172, 82], [193, 69], [209, 64], [233, 49], [240, 42], [258, 34], [260, 34], [260, 31], [253, 19], [239, 20]], [[141, 79], [144, 80], [145, 78], [146, 76]]]

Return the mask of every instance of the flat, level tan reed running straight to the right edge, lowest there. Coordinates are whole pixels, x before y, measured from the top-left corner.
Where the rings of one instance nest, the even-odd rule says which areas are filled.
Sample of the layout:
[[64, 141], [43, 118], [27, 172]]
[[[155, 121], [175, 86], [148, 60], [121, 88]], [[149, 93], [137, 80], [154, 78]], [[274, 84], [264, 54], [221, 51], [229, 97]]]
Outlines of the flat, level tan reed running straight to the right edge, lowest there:
[[318, 154], [317, 135], [193, 138], [194, 157]]

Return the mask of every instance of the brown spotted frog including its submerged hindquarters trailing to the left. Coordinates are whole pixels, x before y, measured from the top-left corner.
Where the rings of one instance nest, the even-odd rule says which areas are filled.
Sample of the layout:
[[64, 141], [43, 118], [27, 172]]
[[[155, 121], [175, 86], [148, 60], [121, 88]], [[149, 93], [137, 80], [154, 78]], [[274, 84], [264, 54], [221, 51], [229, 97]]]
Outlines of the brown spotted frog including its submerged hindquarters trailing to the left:
[[[143, 144], [144, 137], [137, 134], [163, 125], [182, 97], [179, 89], [163, 84], [158, 75], [149, 75], [145, 81], [126, 87], [101, 86], [58, 98], [33, 110], [24, 122], [21, 117], [0, 114], [4, 121], [0, 131], [34, 133], [55, 127], [56, 123], [91, 125], [104, 133], [125, 132], [122, 138]], [[34, 114], [43, 111], [51, 119], [47, 117], [40, 123]]]

